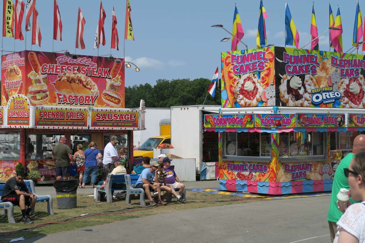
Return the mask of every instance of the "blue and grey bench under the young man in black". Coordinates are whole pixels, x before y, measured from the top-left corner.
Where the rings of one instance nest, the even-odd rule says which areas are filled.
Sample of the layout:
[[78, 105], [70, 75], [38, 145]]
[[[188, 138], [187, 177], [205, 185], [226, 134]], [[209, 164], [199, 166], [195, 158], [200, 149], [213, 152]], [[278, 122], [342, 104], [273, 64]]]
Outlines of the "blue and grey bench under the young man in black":
[[[28, 187], [28, 190], [31, 191], [35, 196], [37, 196], [37, 203], [38, 202], [47, 202], [47, 212], [49, 215], [53, 215], [53, 199], [51, 195], [38, 195], [35, 192], [34, 183], [32, 180], [25, 180], [24, 183]], [[5, 184], [0, 185], [0, 195], [3, 193]], [[36, 204], [37, 205], [37, 204]], [[34, 209], [30, 212], [31, 215], [34, 214]], [[3, 202], [0, 199], [0, 210], [2, 211], [1, 214], [8, 214], [8, 221], [11, 224], [15, 224], [14, 219], [14, 205], [10, 202]]]

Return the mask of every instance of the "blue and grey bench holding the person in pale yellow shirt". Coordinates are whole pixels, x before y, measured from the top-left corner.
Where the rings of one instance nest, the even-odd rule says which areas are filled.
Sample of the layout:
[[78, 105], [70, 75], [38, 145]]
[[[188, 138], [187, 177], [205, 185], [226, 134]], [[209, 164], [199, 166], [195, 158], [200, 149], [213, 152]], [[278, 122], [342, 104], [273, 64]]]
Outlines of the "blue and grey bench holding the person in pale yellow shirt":
[[107, 203], [113, 202], [113, 191], [126, 191], [126, 187], [118, 187], [116, 183], [125, 183], [124, 175], [113, 175], [112, 173], [108, 174], [107, 177], [107, 185], [104, 188], [101, 186], [95, 187], [96, 189], [96, 197], [95, 201], [100, 202], [101, 193], [104, 192], [107, 197]]

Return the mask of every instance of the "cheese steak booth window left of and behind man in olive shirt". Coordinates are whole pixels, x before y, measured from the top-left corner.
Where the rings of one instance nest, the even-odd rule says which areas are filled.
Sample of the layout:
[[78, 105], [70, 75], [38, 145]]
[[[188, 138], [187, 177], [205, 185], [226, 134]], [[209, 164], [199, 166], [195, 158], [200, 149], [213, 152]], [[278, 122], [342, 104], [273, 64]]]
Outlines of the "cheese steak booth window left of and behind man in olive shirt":
[[51, 159], [52, 149], [61, 137], [65, 137], [65, 134], [27, 134], [25, 158], [27, 160]]

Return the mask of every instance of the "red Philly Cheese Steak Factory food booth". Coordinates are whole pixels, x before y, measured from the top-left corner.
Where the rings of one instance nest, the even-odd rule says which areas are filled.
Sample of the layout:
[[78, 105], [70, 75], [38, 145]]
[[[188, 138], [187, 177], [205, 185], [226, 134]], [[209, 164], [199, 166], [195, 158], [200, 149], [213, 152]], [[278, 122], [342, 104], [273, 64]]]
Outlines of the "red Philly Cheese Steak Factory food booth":
[[2, 56], [0, 181], [21, 162], [39, 171], [39, 183], [54, 180], [52, 149], [66, 137], [73, 153], [91, 141], [103, 153], [111, 136], [132, 164], [133, 130], [144, 129], [140, 109], [124, 108], [124, 60], [53, 52]]

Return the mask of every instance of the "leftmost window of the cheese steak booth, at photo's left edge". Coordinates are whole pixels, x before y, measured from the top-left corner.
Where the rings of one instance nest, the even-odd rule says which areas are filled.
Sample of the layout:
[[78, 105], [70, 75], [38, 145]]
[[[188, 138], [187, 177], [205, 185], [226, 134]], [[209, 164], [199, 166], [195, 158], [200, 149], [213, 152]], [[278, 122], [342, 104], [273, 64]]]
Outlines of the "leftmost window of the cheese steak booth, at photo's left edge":
[[20, 159], [20, 133], [0, 133], [0, 160]]

